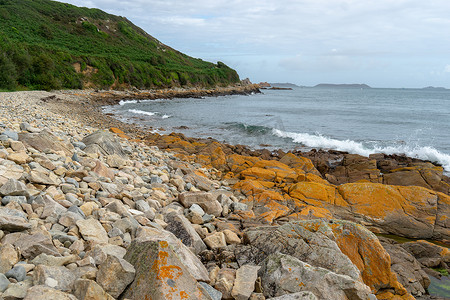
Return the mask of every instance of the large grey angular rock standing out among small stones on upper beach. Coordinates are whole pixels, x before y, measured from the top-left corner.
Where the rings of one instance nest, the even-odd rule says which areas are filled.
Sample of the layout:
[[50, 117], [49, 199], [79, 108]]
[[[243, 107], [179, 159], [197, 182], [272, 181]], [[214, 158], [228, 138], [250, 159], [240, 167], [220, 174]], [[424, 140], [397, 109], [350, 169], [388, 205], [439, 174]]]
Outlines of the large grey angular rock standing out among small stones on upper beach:
[[102, 155], [116, 154], [122, 158], [126, 157], [120, 143], [114, 135], [108, 131], [98, 130], [86, 136], [81, 142], [86, 145], [86, 148], [84, 149], [86, 153], [100, 152]]

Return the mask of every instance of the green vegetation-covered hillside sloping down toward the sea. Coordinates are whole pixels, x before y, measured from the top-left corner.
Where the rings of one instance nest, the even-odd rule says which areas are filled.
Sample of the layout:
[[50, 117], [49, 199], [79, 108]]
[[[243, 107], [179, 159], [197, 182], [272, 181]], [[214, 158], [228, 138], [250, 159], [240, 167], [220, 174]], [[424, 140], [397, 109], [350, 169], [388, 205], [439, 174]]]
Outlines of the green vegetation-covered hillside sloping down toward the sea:
[[225, 64], [195, 59], [123, 17], [50, 0], [0, 0], [0, 89], [228, 85]]

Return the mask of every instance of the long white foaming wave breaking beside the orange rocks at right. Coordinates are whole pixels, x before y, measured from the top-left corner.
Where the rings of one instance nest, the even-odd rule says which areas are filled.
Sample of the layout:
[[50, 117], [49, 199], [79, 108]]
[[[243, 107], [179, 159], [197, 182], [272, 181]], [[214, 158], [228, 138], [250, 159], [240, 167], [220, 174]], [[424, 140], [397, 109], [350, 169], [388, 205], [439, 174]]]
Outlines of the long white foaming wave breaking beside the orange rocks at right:
[[323, 135], [311, 135], [308, 133], [286, 132], [278, 129], [273, 129], [272, 133], [281, 138], [290, 138], [295, 143], [301, 143], [311, 148], [334, 149], [338, 151], [345, 151], [362, 156], [369, 156], [374, 153], [385, 154], [405, 154], [409, 157], [429, 160], [441, 164], [446, 172], [450, 172], [450, 155], [439, 152], [432, 147], [411, 147], [410, 145], [399, 145], [389, 147], [367, 148], [362, 143], [352, 140], [337, 140], [328, 138]]

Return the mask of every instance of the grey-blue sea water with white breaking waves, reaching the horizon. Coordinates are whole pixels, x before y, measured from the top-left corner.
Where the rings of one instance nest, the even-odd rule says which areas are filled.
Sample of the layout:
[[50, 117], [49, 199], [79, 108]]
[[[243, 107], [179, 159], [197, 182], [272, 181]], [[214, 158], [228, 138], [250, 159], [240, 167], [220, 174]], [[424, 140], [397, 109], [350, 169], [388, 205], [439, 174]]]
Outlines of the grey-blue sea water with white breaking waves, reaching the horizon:
[[262, 90], [202, 99], [127, 101], [122, 121], [254, 148], [406, 154], [450, 172], [450, 90]]

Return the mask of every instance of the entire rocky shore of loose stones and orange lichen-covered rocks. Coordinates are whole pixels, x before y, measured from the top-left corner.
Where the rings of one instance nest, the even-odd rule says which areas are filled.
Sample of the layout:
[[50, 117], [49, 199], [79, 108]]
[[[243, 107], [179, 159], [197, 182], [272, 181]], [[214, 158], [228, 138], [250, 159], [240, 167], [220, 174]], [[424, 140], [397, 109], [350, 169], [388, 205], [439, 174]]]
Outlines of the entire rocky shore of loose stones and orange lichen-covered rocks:
[[133, 97], [0, 94], [0, 299], [445, 299], [427, 294], [450, 271], [426, 241], [450, 240], [439, 166], [252, 151], [101, 113]]

